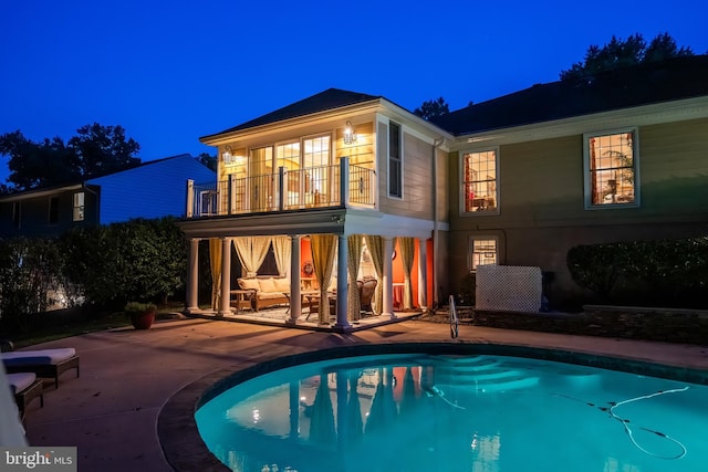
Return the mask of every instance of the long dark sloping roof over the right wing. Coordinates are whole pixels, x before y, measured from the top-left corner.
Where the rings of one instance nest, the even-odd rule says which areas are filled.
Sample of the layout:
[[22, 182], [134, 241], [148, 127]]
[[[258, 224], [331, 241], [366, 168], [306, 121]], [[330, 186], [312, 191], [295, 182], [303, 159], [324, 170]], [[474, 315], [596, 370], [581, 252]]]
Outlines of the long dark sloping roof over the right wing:
[[708, 55], [674, 57], [538, 84], [431, 119], [454, 135], [708, 95]]

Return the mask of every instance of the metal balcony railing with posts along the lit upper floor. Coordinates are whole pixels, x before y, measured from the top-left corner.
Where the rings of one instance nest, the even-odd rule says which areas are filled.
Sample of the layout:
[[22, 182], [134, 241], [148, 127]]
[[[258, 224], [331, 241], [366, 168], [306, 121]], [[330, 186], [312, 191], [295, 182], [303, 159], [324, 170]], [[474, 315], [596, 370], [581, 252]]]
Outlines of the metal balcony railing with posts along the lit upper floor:
[[[344, 183], [344, 185], [343, 185]], [[187, 181], [187, 218], [284, 211], [306, 208], [375, 206], [376, 172], [339, 165], [278, 169], [278, 174], [197, 185]]]

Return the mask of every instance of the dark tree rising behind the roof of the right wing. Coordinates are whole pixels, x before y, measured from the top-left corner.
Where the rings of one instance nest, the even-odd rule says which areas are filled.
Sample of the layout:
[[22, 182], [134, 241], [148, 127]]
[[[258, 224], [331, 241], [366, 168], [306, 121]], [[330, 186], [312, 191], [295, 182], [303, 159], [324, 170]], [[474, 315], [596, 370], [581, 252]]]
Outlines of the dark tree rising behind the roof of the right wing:
[[694, 55], [690, 48], [679, 49], [668, 33], [658, 34], [648, 46], [641, 33], [629, 35], [626, 41], [613, 35], [602, 48], [590, 45], [585, 60], [561, 71], [560, 77], [562, 81], [580, 78], [603, 71], [688, 55]]

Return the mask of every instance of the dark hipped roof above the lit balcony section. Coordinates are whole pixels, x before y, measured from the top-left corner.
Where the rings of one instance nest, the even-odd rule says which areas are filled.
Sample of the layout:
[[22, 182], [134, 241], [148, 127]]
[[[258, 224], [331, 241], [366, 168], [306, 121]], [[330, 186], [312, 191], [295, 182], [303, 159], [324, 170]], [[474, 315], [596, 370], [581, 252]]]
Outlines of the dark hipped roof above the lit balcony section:
[[311, 115], [313, 113], [326, 112], [327, 109], [340, 108], [347, 105], [356, 105], [383, 98], [382, 96], [367, 95], [358, 92], [343, 91], [340, 88], [327, 88], [324, 92], [309, 96], [299, 102], [292, 103], [274, 112], [262, 115], [258, 118], [242, 123], [220, 133], [202, 136], [199, 139], [207, 139], [211, 136], [225, 133], [233, 133], [241, 129], [248, 129], [256, 126], [269, 125], [271, 123], [282, 122], [284, 119], [296, 118], [299, 116]]

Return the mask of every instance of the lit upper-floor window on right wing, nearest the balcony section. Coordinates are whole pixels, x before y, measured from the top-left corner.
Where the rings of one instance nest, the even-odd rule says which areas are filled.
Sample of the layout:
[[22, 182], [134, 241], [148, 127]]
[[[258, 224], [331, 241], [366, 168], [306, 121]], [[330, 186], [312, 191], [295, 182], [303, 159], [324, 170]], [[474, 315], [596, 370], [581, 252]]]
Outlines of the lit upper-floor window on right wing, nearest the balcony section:
[[465, 212], [497, 212], [497, 149], [462, 154]]

